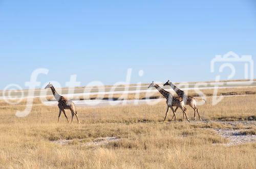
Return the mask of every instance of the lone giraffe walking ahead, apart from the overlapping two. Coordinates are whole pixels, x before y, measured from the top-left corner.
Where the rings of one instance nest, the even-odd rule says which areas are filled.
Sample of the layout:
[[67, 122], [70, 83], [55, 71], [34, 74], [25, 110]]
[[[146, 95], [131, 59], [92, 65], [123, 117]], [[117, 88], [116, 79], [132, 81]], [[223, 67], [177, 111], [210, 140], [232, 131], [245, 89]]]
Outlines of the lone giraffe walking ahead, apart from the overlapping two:
[[73, 117], [74, 115], [76, 115], [76, 119], [77, 119], [77, 122], [79, 122], [78, 120], [78, 115], [77, 115], [77, 111], [76, 111], [76, 107], [75, 107], [75, 104], [71, 101], [71, 100], [68, 100], [67, 98], [63, 97], [63, 96], [60, 96], [55, 88], [53, 87], [53, 85], [51, 83], [49, 83], [45, 89], [51, 89], [52, 90], [52, 94], [53, 96], [55, 97], [55, 99], [58, 101], [58, 107], [59, 107], [59, 116], [58, 116], [58, 122], [59, 122], [59, 117], [61, 115], [61, 111], [63, 111], [63, 114], [64, 116], [66, 117], [68, 123], [69, 123], [69, 119], [66, 115], [66, 112], [65, 112], [65, 109], [69, 109], [71, 111], [71, 114], [72, 114], [72, 120], [71, 120], [71, 123], [73, 122]]

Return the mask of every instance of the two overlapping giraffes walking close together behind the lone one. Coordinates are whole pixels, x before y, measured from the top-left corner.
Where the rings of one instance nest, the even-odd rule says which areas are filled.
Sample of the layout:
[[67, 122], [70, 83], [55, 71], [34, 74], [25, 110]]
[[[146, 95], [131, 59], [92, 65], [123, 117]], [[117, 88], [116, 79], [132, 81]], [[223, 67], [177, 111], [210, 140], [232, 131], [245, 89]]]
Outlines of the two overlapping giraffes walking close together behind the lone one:
[[[184, 115], [185, 115], [187, 121], [190, 122], [190, 120], [187, 118], [187, 115], [186, 115], [185, 105], [189, 105], [190, 107], [192, 107], [194, 109], [194, 120], [196, 120], [196, 112], [197, 112], [200, 121], [202, 121], [202, 119], [199, 115], [199, 112], [198, 112], [197, 102], [196, 102], [196, 99], [194, 97], [187, 96], [184, 91], [177, 88], [172, 82], [170, 82], [170, 80], [168, 80], [166, 83], [164, 83], [163, 86], [170, 86], [177, 93], [178, 97], [175, 97], [175, 96], [172, 95], [172, 93], [165, 91], [159, 85], [154, 83], [154, 81], [151, 83], [151, 85], [148, 88], [156, 88], [163, 95], [163, 97], [166, 99], [167, 110], [166, 110], [166, 113], [165, 113], [164, 121], [166, 120], [169, 109], [172, 109], [172, 111], [174, 113], [172, 121], [175, 118], [175, 120], [177, 122], [175, 112], [177, 111], [178, 108], [180, 108], [183, 112], [183, 120], [184, 120]], [[204, 99], [198, 99], [198, 100], [204, 100]], [[204, 100], [204, 101], [206, 102], [206, 100]], [[176, 109], [174, 110], [173, 107], [176, 107]]]

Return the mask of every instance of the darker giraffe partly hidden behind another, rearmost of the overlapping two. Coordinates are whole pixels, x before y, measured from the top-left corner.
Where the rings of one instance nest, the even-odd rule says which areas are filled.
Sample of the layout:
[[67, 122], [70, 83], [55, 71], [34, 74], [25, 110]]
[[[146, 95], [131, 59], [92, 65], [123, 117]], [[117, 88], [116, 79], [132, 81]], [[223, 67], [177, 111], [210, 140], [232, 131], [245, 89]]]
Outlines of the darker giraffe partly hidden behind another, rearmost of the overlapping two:
[[[196, 111], [197, 111], [199, 119], [200, 121], [202, 121], [197, 108], [197, 101], [196, 101], [197, 99], [195, 99], [192, 96], [187, 96], [184, 91], [177, 88], [172, 82], [170, 82], [170, 80], [168, 80], [163, 86], [170, 86], [177, 93], [179, 97], [183, 98], [185, 105], [189, 105], [194, 109], [194, 120], [196, 121]], [[204, 99], [201, 99], [201, 100], [204, 100]], [[206, 100], [204, 101], [206, 102]], [[177, 109], [178, 108], [175, 109], [175, 112], [177, 111]], [[183, 119], [184, 119], [184, 116], [183, 116]]]

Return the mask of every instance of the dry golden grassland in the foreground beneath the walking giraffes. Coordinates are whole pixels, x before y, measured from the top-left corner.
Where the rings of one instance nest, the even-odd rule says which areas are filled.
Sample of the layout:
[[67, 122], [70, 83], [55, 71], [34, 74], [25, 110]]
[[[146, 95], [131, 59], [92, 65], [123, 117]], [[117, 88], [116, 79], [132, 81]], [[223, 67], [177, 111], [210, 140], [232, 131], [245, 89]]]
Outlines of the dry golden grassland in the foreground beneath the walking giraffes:
[[[0, 168], [256, 168], [256, 143], [226, 146], [214, 129], [240, 129], [255, 135], [256, 95], [225, 97], [199, 106], [203, 119], [164, 123], [165, 102], [156, 105], [77, 107], [81, 124], [68, 124], [58, 107], [38, 100], [25, 118], [19, 105], [0, 103]], [[187, 107], [189, 119], [193, 109]], [[66, 111], [71, 119], [70, 111]], [[172, 118], [169, 112], [168, 119]], [[250, 121], [231, 125], [226, 121]], [[87, 144], [101, 137], [114, 142]], [[70, 140], [57, 144], [56, 140]]]

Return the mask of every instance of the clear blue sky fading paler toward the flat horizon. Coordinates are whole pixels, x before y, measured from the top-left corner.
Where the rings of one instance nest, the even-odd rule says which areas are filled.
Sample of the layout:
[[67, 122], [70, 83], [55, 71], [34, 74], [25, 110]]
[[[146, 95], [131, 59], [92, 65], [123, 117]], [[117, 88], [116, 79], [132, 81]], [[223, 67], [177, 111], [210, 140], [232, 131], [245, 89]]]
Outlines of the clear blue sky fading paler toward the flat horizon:
[[111, 85], [128, 68], [132, 83], [212, 80], [210, 61], [230, 50], [256, 56], [253, 0], [0, 0], [0, 89], [25, 88], [37, 68], [62, 86], [72, 74]]

